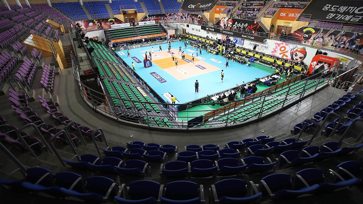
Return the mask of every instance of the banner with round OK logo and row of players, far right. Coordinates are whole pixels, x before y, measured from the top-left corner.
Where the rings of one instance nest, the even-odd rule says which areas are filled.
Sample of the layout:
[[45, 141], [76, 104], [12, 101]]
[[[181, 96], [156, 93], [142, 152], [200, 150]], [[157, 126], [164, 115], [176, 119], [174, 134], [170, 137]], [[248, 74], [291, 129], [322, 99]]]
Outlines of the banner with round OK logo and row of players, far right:
[[[295, 39], [301, 44], [321, 46], [323, 48], [334, 48], [340, 52], [346, 50], [363, 55], [363, 35], [342, 30], [331, 30], [322, 28], [302, 27], [289, 33], [287, 36]], [[351, 51], [351, 52], [353, 52]]]

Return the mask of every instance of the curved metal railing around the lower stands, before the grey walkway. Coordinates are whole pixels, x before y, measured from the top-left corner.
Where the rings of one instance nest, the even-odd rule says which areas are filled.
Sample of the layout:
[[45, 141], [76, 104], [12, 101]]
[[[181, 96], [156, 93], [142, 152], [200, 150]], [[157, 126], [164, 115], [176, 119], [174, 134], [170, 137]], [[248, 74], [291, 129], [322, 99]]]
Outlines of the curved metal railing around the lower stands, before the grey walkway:
[[[77, 65], [77, 63], [74, 62], [74, 65]], [[131, 68], [126, 66], [126, 69], [132, 73]], [[74, 66], [74, 72], [78, 72], [77, 66]], [[329, 74], [315, 74], [311, 77], [308, 77], [307, 79], [302, 80], [302, 83], [315, 81], [313, 83], [316, 83], [316, 85], [314, 85], [313, 87], [307, 87], [306, 85], [302, 85], [298, 87], [298, 89], [292, 86], [299, 82], [294, 81], [294, 83], [291, 83], [291, 85], [289, 84], [289, 81], [282, 82], [281, 84], [277, 85], [280, 86], [278, 88], [276, 87], [275, 90], [277, 90], [277, 92], [262, 94], [262, 91], [238, 101], [219, 103], [208, 101], [207, 103], [203, 104], [178, 104], [178, 106], [186, 107], [186, 109], [183, 111], [175, 110], [175, 106], [171, 105], [170, 103], [140, 102], [121, 99], [119, 97], [111, 97], [110, 95], [99, 93], [96, 90], [87, 87], [85, 84], [79, 81], [78, 78], [76, 78], [76, 83], [81, 93], [81, 96], [83, 100], [87, 103], [87, 105], [89, 105], [96, 112], [102, 115], [116, 119], [120, 122], [131, 122], [133, 125], [142, 126], [144, 128], [158, 127], [160, 123], [159, 121], [155, 121], [154, 118], [160, 118], [161, 121], [166, 120], [167, 123], [165, 124], [169, 124], [169, 127], [187, 130], [203, 127], [206, 125], [215, 127], [238, 126], [249, 123], [256, 119], [260, 120], [279, 109], [282, 109], [286, 106], [293, 104], [296, 101], [301, 100], [302, 98], [306, 97], [307, 94], [313, 93], [319, 87], [327, 86], [327, 81], [330, 79], [330, 77], [332, 76], [330, 76]], [[138, 78], [136, 79], [140, 80]], [[321, 81], [324, 79], [325, 81]], [[142, 82], [140, 81], [140, 83]], [[284, 83], [286, 83], [285, 86]], [[237, 87], [234, 88], [237, 90]], [[283, 90], [284, 93], [279, 94], [278, 91], [281, 90]], [[275, 95], [272, 96], [273, 94]], [[101, 97], [99, 97], [99, 95], [101, 95]], [[283, 100], [276, 107], [268, 108], [264, 106], [265, 104], [268, 104], [270, 102], [269, 100], [272, 98], [283, 98]], [[117, 101], [121, 101], [121, 106], [116, 107], [114, 105], [114, 99]], [[98, 104], [96, 104], [96, 102], [98, 102]], [[101, 102], [102, 105], [99, 105], [99, 102]], [[138, 103], [141, 105], [142, 108], [141, 110], [137, 110], [135, 107], [130, 108], [122, 105], [123, 102], [129, 102], [131, 104]], [[260, 106], [249, 106], [254, 103], [258, 103]], [[147, 106], [151, 104], [159, 107], [160, 113], [148, 110]], [[210, 105], [216, 106], [218, 108], [208, 108], [207, 110], [205, 110], [206, 107], [210, 107]], [[193, 107], [195, 106], [201, 107], [200, 110], [204, 109], [204, 111], [193, 109]], [[244, 108], [246, 107], [248, 108], [248, 110], [244, 110]], [[234, 120], [234, 116], [236, 116], [236, 113], [239, 113], [241, 115], [247, 115], [248, 117]], [[200, 121], [193, 122], [195, 118], [199, 118]], [[168, 126], [165, 124], [161, 126]], [[164, 129], [168, 127], [158, 128]]]

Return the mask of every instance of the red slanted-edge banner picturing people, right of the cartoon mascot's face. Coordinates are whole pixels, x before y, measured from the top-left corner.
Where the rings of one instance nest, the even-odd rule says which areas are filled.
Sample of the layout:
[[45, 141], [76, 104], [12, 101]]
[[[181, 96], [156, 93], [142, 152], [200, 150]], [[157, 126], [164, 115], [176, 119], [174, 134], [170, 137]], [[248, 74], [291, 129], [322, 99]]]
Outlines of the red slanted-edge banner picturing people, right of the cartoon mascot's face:
[[323, 70], [329, 69], [330, 67], [338, 64], [339, 60], [335, 57], [317, 54], [313, 57], [313, 60], [311, 60], [309, 71], [306, 73], [306, 75], [322, 72]]

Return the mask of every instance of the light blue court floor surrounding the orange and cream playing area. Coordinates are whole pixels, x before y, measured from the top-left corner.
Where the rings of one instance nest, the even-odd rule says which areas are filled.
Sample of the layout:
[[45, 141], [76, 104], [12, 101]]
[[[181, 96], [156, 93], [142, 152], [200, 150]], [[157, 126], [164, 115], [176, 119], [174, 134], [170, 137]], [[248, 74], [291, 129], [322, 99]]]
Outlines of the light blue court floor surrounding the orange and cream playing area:
[[[184, 42], [172, 42], [171, 49], [176, 49], [175, 56], [178, 56], [179, 46], [182, 47], [182, 50], [185, 54], [191, 55], [192, 53], [196, 55], [196, 49], [188, 47], [184, 48]], [[158, 54], [159, 45], [153, 46], [155, 54]], [[167, 50], [168, 44], [162, 44], [162, 50]], [[193, 76], [190, 78], [186, 78], [183, 80], [178, 80], [164, 69], [159, 66], [153, 64], [150, 68], [144, 68], [143, 59], [145, 57], [145, 51], [147, 53], [151, 50], [150, 47], [143, 48], [135, 48], [130, 49], [131, 57], [136, 57], [141, 63], [137, 63], [131, 57], [127, 57], [127, 50], [116, 52], [130, 67], [131, 63], [134, 62], [136, 73], [147, 82], [149, 86], [152, 87], [165, 101], [168, 101], [166, 97], [163, 96], [163, 93], [169, 92], [174, 95], [179, 103], [187, 103], [189, 101], [194, 101], [198, 98], [203, 98], [208, 95], [212, 95], [215, 93], [219, 93], [223, 90], [230, 89], [236, 86], [236, 83], [241, 84], [244, 82], [253, 81], [255, 78], [261, 78], [266, 75], [269, 75], [273, 72], [266, 72], [262, 69], [256, 68], [261, 67], [262, 65], [253, 63], [251, 67], [247, 67], [246, 65], [241, 65], [237, 62], [229, 61], [229, 67], [225, 68], [226, 59], [219, 55], [214, 55], [207, 53], [205, 50], [202, 50], [202, 54], [198, 56], [201, 57], [201, 61], [206, 62], [210, 65], [216, 66], [219, 70], [215, 70], [209, 73], [200, 74], [198, 76]], [[171, 56], [171, 55], [170, 55]], [[186, 56], [187, 58], [187, 56]], [[204, 60], [203, 60], [204, 58]], [[169, 59], [169, 57], [168, 57]], [[212, 60], [211, 60], [212, 59]], [[158, 60], [156, 57], [152, 57], [153, 60]], [[171, 61], [171, 57], [170, 57]], [[181, 60], [178, 58], [178, 61]], [[197, 63], [197, 62], [196, 62]], [[191, 66], [194, 66], [190, 63]], [[185, 65], [183, 65], [185, 66]], [[256, 66], [256, 67], [255, 67]], [[175, 68], [176, 69], [176, 68]], [[195, 68], [198, 69], [198, 68]], [[221, 82], [221, 70], [224, 70], [224, 80]], [[166, 82], [161, 83], [158, 81], [153, 75], [150, 73], [155, 72], [160, 77], [162, 77]], [[194, 83], [195, 80], [199, 82], [199, 93], [195, 93]]]

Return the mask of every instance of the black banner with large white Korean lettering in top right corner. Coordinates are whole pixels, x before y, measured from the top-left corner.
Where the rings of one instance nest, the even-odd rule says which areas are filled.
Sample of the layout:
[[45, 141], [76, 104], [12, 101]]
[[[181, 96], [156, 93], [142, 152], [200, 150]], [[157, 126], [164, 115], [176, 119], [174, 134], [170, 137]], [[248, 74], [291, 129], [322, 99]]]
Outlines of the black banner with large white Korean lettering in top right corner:
[[311, 19], [363, 24], [363, 1], [313, 0], [302, 13]]

